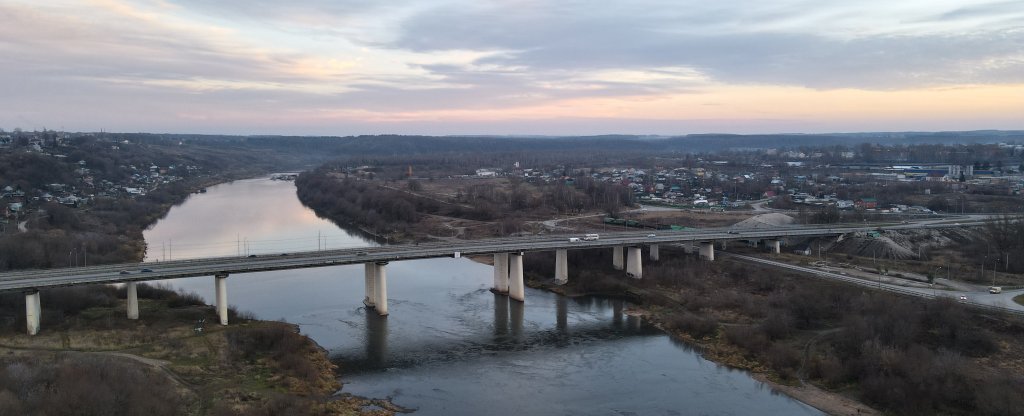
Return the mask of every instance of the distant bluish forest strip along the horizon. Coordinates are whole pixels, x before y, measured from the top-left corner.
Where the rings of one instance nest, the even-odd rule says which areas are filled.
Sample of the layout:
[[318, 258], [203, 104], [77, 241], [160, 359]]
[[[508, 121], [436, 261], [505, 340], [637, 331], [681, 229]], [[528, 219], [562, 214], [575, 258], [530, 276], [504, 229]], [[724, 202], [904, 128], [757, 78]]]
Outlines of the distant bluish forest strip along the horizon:
[[[994, 143], [1024, 140], [1022, 131], [952, 131], [952, 132], [868, 132], [851, 134], [689, 134], [673, 137], [638, 135], [597, 136], [424, 136], [424, 135], [360, 135], [360, 136], [232, 136], [204, 134], [104, 133], [117, 139], [137, 142], [185, 142], [218, 147], [248, 147], [275, 152], [301, 150], [334, 155], [442, 154], [573, 151], [586, 148], [596, 152], [644, 153], [714, 153], [749, 149], [822, 149], [859, 145], [909, 147]], [[928, 156], [929, 154], [920, 155]], [[919, 156], [919, 155], [914, 155]], [[897, 154], [895, 157], [899, 158]], [[902, 158], [906, 158], [904, 155]], [[889, 156], [868, 153], [870, 161]]]

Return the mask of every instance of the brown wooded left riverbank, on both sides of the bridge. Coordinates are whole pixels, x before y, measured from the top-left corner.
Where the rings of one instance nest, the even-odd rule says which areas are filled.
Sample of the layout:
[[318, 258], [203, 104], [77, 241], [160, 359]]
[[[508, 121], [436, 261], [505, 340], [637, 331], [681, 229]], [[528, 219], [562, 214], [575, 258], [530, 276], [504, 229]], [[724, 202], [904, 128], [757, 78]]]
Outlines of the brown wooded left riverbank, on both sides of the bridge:
[[[23, 204], [0, 233], [0, 271], [139, 261], [145, 251], [142, 230], [188, 195], [317, 157], [302, 155], [301, 149], [268, 153], [151, 135], [37, 136], [42, 137], [38, 150], [30, 149], [37, 138], [31, 134], [0, 148], [0, 188], [17, 190], [0, 212], [7, 203]], [[151, 164], [189, 168], [175, 170], [173, 181], [142, 181], [138, 172], [150, 175]], [[75, 206], [58, 204], [56, 198], [42, 198], [57, 188], [53, 183], [68, 194], [97, 195]], [[124, 191], [136, 183], [145, 195]], [[20, 221], [24, 228], [15, 226]], [[0, 414], [359, 412], [360, 399], [329, 398], [339, 388], [336, 367], [294, 326], [232, 310], [231, 326], [205, 325], [196, 333], [200, 320], [216, 320], [201, 298], [145, 285], [138, 290], [139, 321], [124, 319], [123, 290], [44, 290], [46, 329], [35, 337], [24, 334], [24, 296], [0, 294]]]

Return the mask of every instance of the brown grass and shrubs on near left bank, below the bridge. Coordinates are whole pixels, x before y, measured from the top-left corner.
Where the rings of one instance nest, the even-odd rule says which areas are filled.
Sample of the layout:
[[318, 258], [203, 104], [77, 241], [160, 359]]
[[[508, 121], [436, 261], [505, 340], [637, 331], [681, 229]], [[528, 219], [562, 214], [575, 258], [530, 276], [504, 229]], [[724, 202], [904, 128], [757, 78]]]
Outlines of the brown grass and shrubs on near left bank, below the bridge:
[[34, 337], [12, 318], [20, 295], [0, 295], [0, 414], [345, 415], [371, 404], [331, 397], [336, 367], [293, 325], [230, 309], [231, 326], [197, 332], [217, 319], [199, 296], [138, 294], [140, 320], [128, 321], [124, 289], [48, 290], [48, 329]]

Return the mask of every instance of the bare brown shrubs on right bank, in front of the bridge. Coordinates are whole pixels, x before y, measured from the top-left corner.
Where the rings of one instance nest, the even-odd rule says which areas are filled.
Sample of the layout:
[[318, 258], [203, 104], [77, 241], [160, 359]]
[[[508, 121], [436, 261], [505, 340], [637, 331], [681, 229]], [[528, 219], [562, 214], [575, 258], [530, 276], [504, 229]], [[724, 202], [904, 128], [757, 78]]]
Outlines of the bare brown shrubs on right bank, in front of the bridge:
[[[813, 381], [892, 414], [1024, 414], [1024, 375], [1000, 365], [1015, 359], [1000, 345], [1024, 339], [1018, 320], [665, 248], [640, 281], [601, 266], [610, 250], [570, 256], [573, 264], [596, 264], [574, 269], [569, 285], [579, 291], [664, 290], [636, 300], [674, 310], [667, 327], [700, 341], [716, 361], [738, 353], [783, 381]], [[547, 254], [526, 260], [535, 276], [554, 266]]]

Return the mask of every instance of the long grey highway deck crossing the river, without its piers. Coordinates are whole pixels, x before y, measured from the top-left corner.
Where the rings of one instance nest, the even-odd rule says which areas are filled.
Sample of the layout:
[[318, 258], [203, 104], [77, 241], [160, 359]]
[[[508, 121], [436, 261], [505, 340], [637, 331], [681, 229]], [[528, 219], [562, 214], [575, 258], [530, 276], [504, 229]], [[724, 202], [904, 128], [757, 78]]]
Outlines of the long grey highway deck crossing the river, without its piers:
[[[0, 292], [33, 291], [62, 286], [158, 281], [196, 276], [215, 276], [223, 274], [237, 275], [255, 272], [358, 264], [374, 261], [400, 261], [420, 258], [453, 257], [473, 254], [552, 251], [559, 249], [578, 250], [615, 246], [776, 239], [784, 237], [838, 236], [848, 233], [876, 230], [944, 228], [976, 226], [983, 223], [983, 221], [979, 218], [962, 219], [959, 222], [951, 221], [953, 220], [929, 220], [912, 223], [852, 225], [834, 224], [830, 226], [792, 225], [771, 230], [737, 230], [722, 227], [681, 232], [618, 232], [603, 233], [600, 235], [600, 239], [596, 241], [580, 242], [569, 242], [568, 237], [572, 237], [569, 235], [530, 236], [471, 240], [465, 242], [441, 242], [419, 245], [406, 244], [356, 249], [304, 251], [249, 257], [210, 257], [146, 263], [109, 264], [88, 267], [30, 269], [0, 274]], [[580, 235], [574, 237], [583, 236]]]

